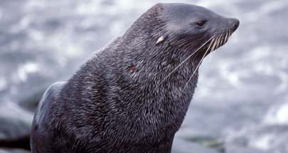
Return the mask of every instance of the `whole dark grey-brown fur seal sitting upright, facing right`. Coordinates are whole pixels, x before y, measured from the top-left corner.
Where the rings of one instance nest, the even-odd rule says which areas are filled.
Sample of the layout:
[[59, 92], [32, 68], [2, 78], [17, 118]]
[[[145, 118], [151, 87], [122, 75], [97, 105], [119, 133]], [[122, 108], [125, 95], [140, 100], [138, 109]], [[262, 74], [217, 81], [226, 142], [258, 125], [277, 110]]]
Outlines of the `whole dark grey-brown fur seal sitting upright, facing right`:
[[67, 82], [47, 89], [32, 152], [171, 152], [199, 65], [238, 26], [201, 6], [149, 8]]

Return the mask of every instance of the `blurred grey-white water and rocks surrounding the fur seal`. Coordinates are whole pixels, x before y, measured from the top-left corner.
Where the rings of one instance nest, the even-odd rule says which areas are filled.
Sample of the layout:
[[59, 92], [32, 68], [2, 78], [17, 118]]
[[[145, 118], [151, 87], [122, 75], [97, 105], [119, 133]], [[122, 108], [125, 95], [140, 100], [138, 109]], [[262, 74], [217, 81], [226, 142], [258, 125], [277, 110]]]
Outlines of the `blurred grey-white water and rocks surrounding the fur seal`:
[[201, 65], [173, 152], [288, 153], [287, 0], [0, 0], [0, 140], [27, 135], [43, 91], [158, 2], [240, 20]]

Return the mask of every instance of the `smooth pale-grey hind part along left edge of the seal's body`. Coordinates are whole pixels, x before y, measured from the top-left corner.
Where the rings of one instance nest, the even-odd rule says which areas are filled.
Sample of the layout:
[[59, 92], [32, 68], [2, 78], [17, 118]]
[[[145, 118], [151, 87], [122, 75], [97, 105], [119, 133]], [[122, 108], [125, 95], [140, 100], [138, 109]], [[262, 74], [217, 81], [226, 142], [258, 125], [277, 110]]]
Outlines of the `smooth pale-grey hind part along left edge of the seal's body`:
[[[41, 147], [47, 147], [43, 145], [46, 145], [46, 139], [49, 135], [47, 132], [49, 124], [49, 106], [51, 103], [53, 103], [53, 101], [55, 101], [55, 98], [57, 98], [65, 84], [66, 82], [56, 82], [55, 84], [49, 86], [43, 94], [33, 118], [30, 138], [31, 152], [39, 152], [42, 151]], [[43, 150], [43, 152], [45, 152], [45, 150]]]

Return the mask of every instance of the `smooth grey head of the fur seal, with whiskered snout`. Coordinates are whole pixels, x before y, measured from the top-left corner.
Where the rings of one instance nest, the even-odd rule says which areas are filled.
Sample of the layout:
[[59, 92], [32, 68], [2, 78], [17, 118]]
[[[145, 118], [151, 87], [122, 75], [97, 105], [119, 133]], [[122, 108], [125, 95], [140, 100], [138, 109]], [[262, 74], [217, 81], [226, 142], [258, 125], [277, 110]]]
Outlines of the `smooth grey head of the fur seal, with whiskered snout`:
[[[211, 46], [209, 52], [224, 45], [240, 23], [238, 19], [225, 18], [207, 8], [187, 4], [163, 5], [161, 20], [166, 21], [164, 35], [171, 37], [171, 44], [189, 50], [192, 48], [192, 52], [207, 40], [218, 40], [217, 46]], [[210, 42], [203, 49], [207, 49]]]

